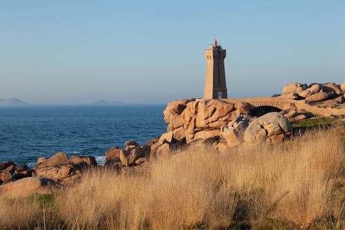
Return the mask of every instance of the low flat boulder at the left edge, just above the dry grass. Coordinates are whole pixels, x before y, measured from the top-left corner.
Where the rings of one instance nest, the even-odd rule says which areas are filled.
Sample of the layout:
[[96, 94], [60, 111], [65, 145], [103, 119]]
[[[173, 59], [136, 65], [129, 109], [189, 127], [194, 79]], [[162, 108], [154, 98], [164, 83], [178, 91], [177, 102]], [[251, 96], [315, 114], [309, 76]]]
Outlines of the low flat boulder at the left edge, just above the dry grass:
[[32, 194], [51, 194], [61, 188], [54, 180], [47, 178], [23, 178], [0, 186], [0, 197], [19, 198]]

